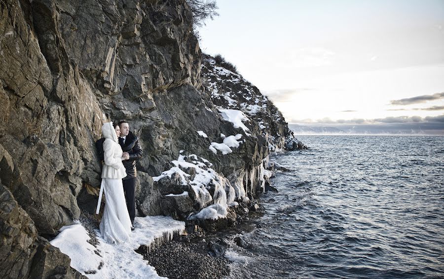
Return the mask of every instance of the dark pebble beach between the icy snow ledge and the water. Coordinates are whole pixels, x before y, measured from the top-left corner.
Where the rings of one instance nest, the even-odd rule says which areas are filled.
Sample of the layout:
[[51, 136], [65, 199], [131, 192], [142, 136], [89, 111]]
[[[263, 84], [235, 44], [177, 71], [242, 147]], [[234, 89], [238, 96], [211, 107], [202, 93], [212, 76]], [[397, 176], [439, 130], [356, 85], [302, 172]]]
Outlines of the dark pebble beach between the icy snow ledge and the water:
[[[252, 202], [251, 208], [259, 208], [258, 203]], [[159, 276], [169, 279], [225, 278], [230, 274], [225, 251], [231, 245], [251, 245], [241, 237], [235, 236], [253, 230], [256, 225], [250, 221], [254, 221], [261, 214], [260, 211], [252, 211], [242, 215], [241, 223], [236, 226], [215, 232], [199, 231], [178, 236], [151, 251], [145, 246], [136, 252], [144, 256]]]

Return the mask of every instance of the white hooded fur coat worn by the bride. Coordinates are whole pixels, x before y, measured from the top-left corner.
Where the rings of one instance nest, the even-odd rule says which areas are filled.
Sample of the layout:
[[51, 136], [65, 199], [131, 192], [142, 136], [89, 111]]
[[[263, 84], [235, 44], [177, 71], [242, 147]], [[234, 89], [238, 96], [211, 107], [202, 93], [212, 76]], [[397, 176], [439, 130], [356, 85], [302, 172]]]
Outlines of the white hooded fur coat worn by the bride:
[[122, 163], [122, 148], [118, 144], [112, 122], [103, 124], [102, 134], [105, 138], [103, 151], [105, 163], [102, 169], [102, 178], [122, 179], [126, 176], [126, 170]]

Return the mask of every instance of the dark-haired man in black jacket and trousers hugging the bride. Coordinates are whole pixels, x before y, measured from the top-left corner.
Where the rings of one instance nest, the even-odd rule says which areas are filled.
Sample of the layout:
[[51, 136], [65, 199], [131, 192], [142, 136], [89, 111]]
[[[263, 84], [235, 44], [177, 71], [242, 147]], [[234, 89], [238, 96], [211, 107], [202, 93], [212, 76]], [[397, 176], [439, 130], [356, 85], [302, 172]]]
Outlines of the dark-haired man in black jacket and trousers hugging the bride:
[[[125, 192], [126, 207], [130, 215], [131, 224], [134, 225], [136, 216], [136, 160], [141, 159], [143, 151], [140, 147], [139, 138], [129, 130], [129, 124], [125, 120], [120, 121], [119, 144], [122, 147], [123, 165], [126, 169], [126, 177], [123, 178], [123, 191]], [[134, 227], [134, 226], [133, 226]]]

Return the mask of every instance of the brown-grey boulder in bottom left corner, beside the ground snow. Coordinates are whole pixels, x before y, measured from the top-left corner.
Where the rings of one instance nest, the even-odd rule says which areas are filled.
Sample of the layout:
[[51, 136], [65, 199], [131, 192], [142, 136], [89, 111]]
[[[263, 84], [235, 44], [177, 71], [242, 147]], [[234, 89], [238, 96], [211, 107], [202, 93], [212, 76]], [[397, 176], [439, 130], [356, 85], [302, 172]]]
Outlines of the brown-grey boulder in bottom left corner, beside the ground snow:
[[0, 204], [1, 278], [86, 278], [59, 248], [37, 236], [33, 220], [1, 184]]

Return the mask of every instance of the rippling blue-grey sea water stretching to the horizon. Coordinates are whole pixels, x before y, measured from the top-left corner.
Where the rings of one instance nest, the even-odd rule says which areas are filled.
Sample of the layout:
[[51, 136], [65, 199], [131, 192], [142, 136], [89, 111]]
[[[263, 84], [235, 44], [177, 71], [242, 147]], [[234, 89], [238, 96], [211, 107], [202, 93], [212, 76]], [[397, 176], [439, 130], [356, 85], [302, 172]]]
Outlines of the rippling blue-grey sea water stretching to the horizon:
[[444, 278], [443, 136], [297, 138], [228, 278]]

